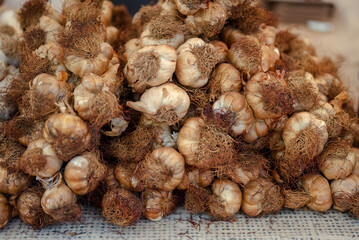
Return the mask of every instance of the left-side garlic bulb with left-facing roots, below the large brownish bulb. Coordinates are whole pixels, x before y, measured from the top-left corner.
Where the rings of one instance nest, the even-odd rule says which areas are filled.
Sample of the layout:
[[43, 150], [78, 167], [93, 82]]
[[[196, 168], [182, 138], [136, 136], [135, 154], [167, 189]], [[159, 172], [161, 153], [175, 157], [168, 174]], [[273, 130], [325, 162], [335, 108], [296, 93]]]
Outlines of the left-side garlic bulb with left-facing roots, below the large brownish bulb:
[[21, 169], [30, 176], [48, 178], [61, 169], [62, 161], [45, 139], [40, 138], [29, 143], [21, 156]]

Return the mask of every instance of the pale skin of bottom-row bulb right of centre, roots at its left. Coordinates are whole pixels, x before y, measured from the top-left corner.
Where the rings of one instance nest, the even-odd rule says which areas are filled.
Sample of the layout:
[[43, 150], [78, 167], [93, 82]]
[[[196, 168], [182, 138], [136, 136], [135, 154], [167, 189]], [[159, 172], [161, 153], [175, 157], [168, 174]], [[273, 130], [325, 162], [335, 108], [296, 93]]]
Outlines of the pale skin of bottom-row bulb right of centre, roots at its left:
[[212, 183], [212, 192], [216, 196], [221, 209], [215, 204], [210, 206], [211, 215], [219, 218], [229, 218], [234, 216], [242, 204], [242, 192], [239, 186], [228, 179], [216, 179]]

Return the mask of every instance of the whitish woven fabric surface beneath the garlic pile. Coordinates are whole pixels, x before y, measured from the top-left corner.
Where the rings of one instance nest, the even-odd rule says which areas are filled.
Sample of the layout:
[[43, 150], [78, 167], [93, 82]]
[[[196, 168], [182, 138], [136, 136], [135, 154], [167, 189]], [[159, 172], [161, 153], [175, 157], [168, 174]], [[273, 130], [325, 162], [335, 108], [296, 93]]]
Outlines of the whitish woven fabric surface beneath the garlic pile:
[[281, 210], [262, 218], [243, 214], [236, 217], [233, 223], [216, 222], [180, 207], [159, 222], [141, 219], [134, 226], [119, 227], [107, 223], [99, 210], [87, 207], [82, 222], [56, 224], [41, 231], [32, 230], [18, 218], [12, 219], [0, 230], [0, 239], [359, 239], [359, 220], [334, 210]]

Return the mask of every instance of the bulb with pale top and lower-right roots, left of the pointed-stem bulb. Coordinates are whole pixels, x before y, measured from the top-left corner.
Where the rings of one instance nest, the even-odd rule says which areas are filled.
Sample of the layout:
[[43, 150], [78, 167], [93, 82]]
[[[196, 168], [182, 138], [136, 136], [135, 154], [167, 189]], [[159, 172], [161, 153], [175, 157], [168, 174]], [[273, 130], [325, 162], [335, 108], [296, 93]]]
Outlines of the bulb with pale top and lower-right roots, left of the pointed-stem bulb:
[[102, 127], [122, 114], [116, 96], [109, 92], [104, 80], [90, 73], [82, 78], [74, 90], [74, 109], [83, 120]]

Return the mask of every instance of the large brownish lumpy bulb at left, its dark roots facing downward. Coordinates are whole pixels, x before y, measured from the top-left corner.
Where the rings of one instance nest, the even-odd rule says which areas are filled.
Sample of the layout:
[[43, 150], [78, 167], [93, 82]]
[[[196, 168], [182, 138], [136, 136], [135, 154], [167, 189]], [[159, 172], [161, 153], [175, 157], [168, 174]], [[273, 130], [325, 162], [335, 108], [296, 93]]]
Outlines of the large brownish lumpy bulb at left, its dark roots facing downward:
[[78, 116], [65, 113], [52, 115], [46, 120], [43, 136], [63, 161], [83, 152], [91, 143], [87, 124]]

